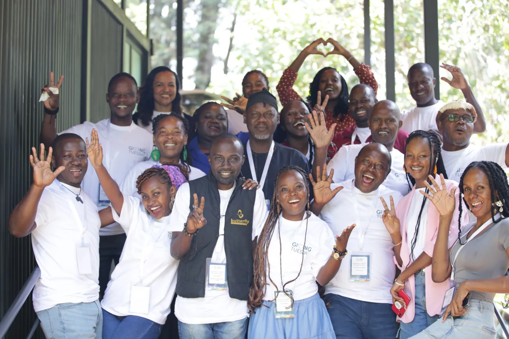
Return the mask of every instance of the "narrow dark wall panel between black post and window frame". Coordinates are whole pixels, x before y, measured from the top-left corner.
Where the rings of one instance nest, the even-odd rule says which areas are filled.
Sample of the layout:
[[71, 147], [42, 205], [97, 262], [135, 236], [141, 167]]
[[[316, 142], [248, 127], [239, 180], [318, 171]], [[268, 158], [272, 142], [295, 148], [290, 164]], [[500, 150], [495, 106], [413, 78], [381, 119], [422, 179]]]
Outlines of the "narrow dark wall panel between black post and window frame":
[[90, 120], [109, 117], [106, 103], [108, 82], [122, 72], [123, 27], [109, 11], [96, 0], [92, 3], [92, 56], [90, 86]]

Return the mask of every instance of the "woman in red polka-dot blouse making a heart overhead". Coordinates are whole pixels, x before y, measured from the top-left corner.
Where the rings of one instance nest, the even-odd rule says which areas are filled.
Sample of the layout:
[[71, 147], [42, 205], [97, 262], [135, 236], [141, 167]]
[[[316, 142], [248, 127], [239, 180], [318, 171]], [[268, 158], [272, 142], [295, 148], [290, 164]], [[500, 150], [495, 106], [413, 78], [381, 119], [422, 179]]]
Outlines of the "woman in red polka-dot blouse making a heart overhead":
[[[319, 45], [331, 44], [334, 49], [327, 54], [319, 51]], [[347, 61], [352, 65], [355, 74], [359, 77], [360, 83], [370, 85], [377, 93], [378, 83], [375, 80], [371, 67], [361, 64], [349, 51], [347, 51], [337, 41], [329, 38], [324, 40], [322, 38], [315, 40], [309, 46], [306, 46], [297, 58], [293, 61], [292, 65], [283, 72], [279, 83], [276, 86], [277, 94], [282, 105], [286, 105], [290, 100], [300, 99], [300, 96], [293, 90], [293, 85], [297, 79], [297, 72], [304, 63], [306, 57], [311, 54], [321, 54], [324, 57], [330, 54], [343, 55]], [[329, 96], [325, 112], [325, 122], [327, 129], [334, 123], [337, 124], [336, 133], [353, 126], [355, 120], [348, 114], [348, 86], [343, 76], [332, 67], [325, 67], [318, 71], [309, 85], [309, 96], [307, 102], [314, 107], [316, 104], [322, 105], [317, 96], [318, 91], [321, 93], [321, 99], [325, 100]]]

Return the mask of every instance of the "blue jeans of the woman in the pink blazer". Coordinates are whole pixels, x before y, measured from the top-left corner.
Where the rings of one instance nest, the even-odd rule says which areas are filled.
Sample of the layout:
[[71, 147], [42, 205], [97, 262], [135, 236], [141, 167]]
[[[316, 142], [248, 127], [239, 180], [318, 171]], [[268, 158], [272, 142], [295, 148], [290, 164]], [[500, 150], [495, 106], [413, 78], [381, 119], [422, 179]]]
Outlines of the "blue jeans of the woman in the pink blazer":
[[425, 273], [419, 270], [414, 274], [415, 278], [415, 316], [414, 320], [405, 324], [400, 323], [400, 339], [409, 337], [422, 332], [428, 326], [431, 326], [440, 318], [440, 315], [430, 317], [426, 311], [426, 282]]

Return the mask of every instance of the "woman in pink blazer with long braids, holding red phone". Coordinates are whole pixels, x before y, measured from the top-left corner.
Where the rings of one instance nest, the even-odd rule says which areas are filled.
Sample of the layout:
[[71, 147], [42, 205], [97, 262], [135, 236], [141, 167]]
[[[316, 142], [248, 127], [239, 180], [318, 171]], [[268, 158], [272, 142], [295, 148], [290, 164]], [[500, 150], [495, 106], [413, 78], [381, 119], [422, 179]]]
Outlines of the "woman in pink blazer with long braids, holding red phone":
[[[406, 308], [403, 317], [398, 317], [400, 339], [419, 333], [439, 318], [444, 295], [449, 289], [448, 280], [441, 283], [432, 280], [431, 263], [440, 214], [421, 194], [429, 193], [429, 175], [437, 180], [439, 175], [447, 178], [438, 137], [420, 130], [412, 132], [405, 147], [404, 167], [411, 192], [400, 200], [395, 211], [385, 208], [383, 214], [384, 224], [392, 237], [395, 258], [401, 269], [390, 291], [392, 301]], [[442, 183], [447, 191], [459, 195], [456, 181], [444, 179]], [[458, 235], [459, 208], [453, 213], [453, 221], [449, 224], [448, 248]], [[467, 221], [467, 216], [463, 215], [462, 222]], [[408, 305], [398, 296], [400, 290], [404, 290], [410, 297]]]

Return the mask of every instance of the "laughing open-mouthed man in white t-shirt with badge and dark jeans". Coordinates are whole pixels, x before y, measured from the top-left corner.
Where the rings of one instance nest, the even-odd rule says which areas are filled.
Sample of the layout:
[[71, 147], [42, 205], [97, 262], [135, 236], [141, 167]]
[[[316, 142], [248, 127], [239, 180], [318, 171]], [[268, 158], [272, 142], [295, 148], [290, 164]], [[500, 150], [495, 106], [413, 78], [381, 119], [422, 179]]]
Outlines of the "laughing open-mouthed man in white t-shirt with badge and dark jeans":
[[398, 331], [391, 310], [396, 266], [391, 237], [382, 221], [380, 200], [402, 195], [382, 185], [390, 172], [391, 156], [378, 143], [365, 145], [355, 160], [355, 179], [331, 184], [343, 189], [325, 205], [312, 204], [312, 211], [334, 234], [355, 224], [347, 244], [348, 254], [340, 270], [325, 286], [325, 302], [336, 337], [354, 339], [394, 338]]

